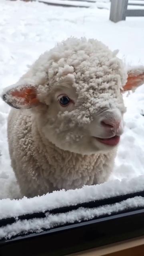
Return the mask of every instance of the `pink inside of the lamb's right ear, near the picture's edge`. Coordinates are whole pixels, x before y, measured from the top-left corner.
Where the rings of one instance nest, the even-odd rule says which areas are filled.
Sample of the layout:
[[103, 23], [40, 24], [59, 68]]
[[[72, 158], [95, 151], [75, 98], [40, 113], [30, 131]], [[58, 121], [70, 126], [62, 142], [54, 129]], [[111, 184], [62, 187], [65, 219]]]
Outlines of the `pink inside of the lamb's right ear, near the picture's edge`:
[[123, 87], [124, 91], [132, 90], [134, 87], [138, 87], [144, 83], [144, 74], [138, 76], [128, 76], [127, 83]]

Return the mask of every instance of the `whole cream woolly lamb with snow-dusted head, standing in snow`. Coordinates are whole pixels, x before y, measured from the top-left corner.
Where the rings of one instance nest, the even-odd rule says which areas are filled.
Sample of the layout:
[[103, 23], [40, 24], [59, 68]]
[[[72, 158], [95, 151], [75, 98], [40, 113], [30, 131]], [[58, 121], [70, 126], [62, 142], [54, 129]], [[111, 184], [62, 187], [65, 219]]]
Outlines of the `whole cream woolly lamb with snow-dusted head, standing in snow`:
[[98, 40], [68, 38], [6, 88], [8, 144], [22, 196], [105, 182], [126, 111], [122, 92], [144, 82]]

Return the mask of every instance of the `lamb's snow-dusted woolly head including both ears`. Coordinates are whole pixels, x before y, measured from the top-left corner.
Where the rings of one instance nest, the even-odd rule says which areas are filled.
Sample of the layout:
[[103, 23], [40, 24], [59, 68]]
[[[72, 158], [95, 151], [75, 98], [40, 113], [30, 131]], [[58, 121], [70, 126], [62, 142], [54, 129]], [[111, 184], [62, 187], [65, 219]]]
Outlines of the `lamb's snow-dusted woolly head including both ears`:
[[110, 150], [123, 132], [122, 91], [144, 82], [144, 68], [126, 71], [97, 40], [69, 38], [45, 52], [3, 95], [31, 108], [43, 138], [81, 154]]

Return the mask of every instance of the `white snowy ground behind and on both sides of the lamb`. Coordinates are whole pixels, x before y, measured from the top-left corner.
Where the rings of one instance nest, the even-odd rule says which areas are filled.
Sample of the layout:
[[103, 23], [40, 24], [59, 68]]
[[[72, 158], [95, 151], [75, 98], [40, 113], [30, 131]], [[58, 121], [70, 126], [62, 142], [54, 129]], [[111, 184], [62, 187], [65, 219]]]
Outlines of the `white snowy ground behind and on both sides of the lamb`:
[[[104, 3], [103, 3], [104, 6]], [[106, 9], [63, 8], [38, 2], [0, 0], [0, 92], [26, 72], [38, 56], [70, 36], [97, 38], [127, 64], [144, 64], [144, 17], [114, 24]], [[144, 174], [144, 85], [124, 95], [127, 106], [114, 172], [110, 180]], [[18, 198], [8, 154], [6, 122], [10, 107], [0, 100], [0, 198]]]

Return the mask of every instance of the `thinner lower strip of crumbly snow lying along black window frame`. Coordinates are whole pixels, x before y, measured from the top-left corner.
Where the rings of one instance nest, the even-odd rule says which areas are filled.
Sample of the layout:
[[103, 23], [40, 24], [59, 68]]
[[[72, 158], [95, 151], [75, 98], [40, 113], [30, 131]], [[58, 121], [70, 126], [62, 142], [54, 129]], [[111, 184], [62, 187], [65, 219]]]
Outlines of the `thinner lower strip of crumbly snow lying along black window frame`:
[[11, 238], [12, 236], [27, 234], [28, 232], [40, 233], [44, 229], [54, 228], [59, 225], [65, 225], [74, 222], [82, 222], [103, 215], [111, 215], [122, 210], [144, 207], [144, 198], [136, 196], [128, 198], [122, 202], [104, 205], [97, 208], [83, 208], [72, 210], [66, 213], [46, 214], [45, 218], [34, 218], [32, 220], [18, 220], [13, 224], [8, 224], [0, 228], [0, 239]]

